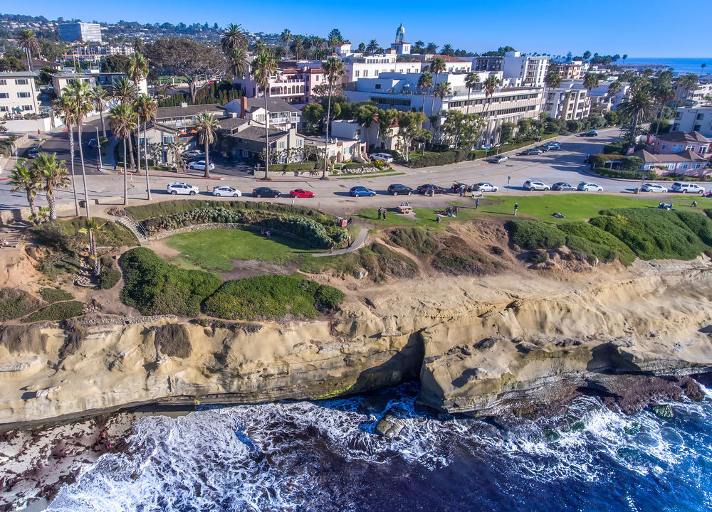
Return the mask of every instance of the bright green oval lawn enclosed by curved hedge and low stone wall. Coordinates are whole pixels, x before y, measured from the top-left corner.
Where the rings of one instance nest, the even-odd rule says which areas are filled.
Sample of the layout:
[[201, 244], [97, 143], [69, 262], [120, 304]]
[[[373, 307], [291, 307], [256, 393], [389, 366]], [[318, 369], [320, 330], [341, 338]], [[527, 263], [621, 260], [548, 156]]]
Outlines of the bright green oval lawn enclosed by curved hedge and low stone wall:
[[179, 250], [174, 263], [182, 267], [205, 270], [231, 270], [233, 260], [259, 260], [282, 265], [312, 250], [292, 238], [262, 235], [243, 230], [205, 230], [180, 233], [166, 240], [166, 245]]

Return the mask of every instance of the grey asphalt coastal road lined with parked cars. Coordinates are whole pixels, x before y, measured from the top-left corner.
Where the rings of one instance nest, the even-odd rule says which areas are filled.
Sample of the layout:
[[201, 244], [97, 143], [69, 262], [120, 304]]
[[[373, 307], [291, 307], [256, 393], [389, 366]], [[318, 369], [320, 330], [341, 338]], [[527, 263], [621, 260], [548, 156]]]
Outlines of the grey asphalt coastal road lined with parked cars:
[[[94, 126], [97, 121], [91, 124]], [[589, 166], [584, 164], [587, 154], [599, 153], [604, 144], [618, 139], [618, 129], [600, 130], [599, 137], [585, 138], [576, 136], [559, 137], [562, 143], [560, 150], [548, 151], [542, 155], [518, 156], [513, 153], [508, 154], [508, 161], [502, 164], [493, 164], [483, 160], [466, 161], [448, 166], [431, 167], [425, 169], [409, 169], [403, 166], [396, 166], [395, 172], [402, 172], [399, 176], [372, 176], [357, 177], [352, 179], [319, 180], [315, 178], [294, 178], [287, 174], [284, 178], [273, 178], [268, 183], [257, 180], [248, 174], [250, 167], [246, 164], [231, 164], [216, 158], [216, 169], [211, 171], [212, 179], [203, 179], [199, 176], [173, 176], [167, 173], [159, 173], [159, 176], [151, 176], [150, 184], [153, 200], [166, 198], [181, 198], [188, 196], [169, 196], [166, 193], [166, 185], [170, 181], [186, 181], [201, 189], [201, 197], [211, 197], [214, 186], [229, 185], [241, 190], [246, 198], [250, 198], [251, 191], [257, 186], [270, 186], [282, 193], [288, 193], [293, 188], [306, 188], [315, 192], [316, 197], [312, 199], [296, 199], [295, 202], [317, 208], [325, 208], [335, 213], [347, 213], [365, 206], [395, 206], [402, 202], [402, 196], [389, 196], [386, 188], [390, 183], [403, 183], [404, 185], [416, 188], [423, 183], [434, 183], [439, 186], [449, 188], [452, 183], [462, 181], [473, 184], [479, 181], [489, 181], [499, 187], [497, 193], [488, 196], [497, 196], [508, 193], [530, 193], [525, 191], [523, 183], [529, 178], [538, 179], [551, 185], [556, 181], [567, 181], [576, 186], [580, 181], [592, 181], [604, 188], [605, 192], [629, 193], [639, 186], [637, 182], [619, 181], [609, 178], [595, 178], [587, 174]], [[90, 138], [90, 129], [85, 129], [85, 144]], [[63, 147], [62, 147], [63, 146]], [[57, 151], [58, 156], [68, 159], [68, 149], [66, 132], [56, 134], [45, 143], [45, 149]], [[85, 146], [86, 147], [86, 146]], [[87, 152], [88, 153], [88, 152]], [[95, 152], [94, 152], [95, 153]], [[95, 156], [87, 154], [87, 168], [95, 169]], [[93, 164], [93, 165], [92, 165]], [[75, 167], [78, 170], [78, 166]], [[260, 174], [258, 174], [259, 176]], [[0, 179], [6, 176], [0, 175]], [[127, 176], [129, 198], [131, 204], [146, 202], [145, 176]], [[123, 176], [118, 174], [90, 174], [87, 177], [90, 198], [98, 199], [101, 204], [116, 203], [108, 198], [116, 198], [123, 194]], [[508, 186], [509, 183], [509, 186]], [[660, 182], [664, 186], [671, 183]], [[349, 189], [352, 186], [366, 186], [377, 192], [374, 198], [352, 198], [349, 196]], [[705, 186], [703, 184], [703, 186]], [[81, 180], [78, 180], [78, 189], [81, 188]], [[562, 192], [548, 192], [558, 194]], [[583, 192], [570, 192], [583, 193]], [[446, 201], [451, 201], [454, 196], [447, 194], [435, 196], [434, 198], [424, 196], [412, 196], [409, 202], [415, 206], [439, 206]], [[71, 203], [72, 193], [70, 191], [58, 192], [58, 203]], [[264, 201], [262, 199], [261, 201]], [[271, 200], [270, 200], [271, 201]], [[276, 200], [282, 203], [290, 203], [290, 198]], [[43, 204], [44, 198], [38, 196], [38, 203]], [[11, 192], [7, 181], [0, 181], [0, 208], [18, 208], [26, 206], [26, 198], [22, 193]]]

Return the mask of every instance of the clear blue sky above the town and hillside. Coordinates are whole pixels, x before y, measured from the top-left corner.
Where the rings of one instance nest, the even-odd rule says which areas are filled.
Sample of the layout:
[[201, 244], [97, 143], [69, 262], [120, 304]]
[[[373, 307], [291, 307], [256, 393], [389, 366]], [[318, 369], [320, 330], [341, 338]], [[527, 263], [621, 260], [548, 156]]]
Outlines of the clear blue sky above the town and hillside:
[[[20, 8], [23, 11], [19, 11]], [[352, 43], [376, 39], [387, 47], [399, 23], [409, 42], [482, 52], [513, 46], [524, 52], [564, 55], [585, 50], [632, 57], [705, 57], [707, 1], [690, 0], [684, 11], [662, 0], [496, 0], [342, 1], [333, 0], [34, 0], [6, 4], [12, 14], [63, 16], [83, 21], [180, 21], [190, 24], [241, 23], [251, 31], [325, 36], [339, 28]], [[694, 16], [698, 13], [699, 16]], [[679, 21], [674, 18], [679, 16]], [[696, 37], [675, 34], [697, 34]]]

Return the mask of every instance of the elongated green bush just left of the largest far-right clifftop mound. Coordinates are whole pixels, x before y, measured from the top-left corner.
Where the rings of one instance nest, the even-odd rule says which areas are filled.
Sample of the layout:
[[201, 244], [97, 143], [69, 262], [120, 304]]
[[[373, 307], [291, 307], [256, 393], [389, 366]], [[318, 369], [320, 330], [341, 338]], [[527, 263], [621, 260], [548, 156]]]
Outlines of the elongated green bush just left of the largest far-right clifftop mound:
[[[635, 255], [630, 247], [595, 225], [574, 222], [560, 224], [559, 229], [566, 233], [566, 245], [572, 251], [582, 252], [589, 257], [595, 256], [602, 262], [618, 258], [623, 265], [631, 265], [635, 261]], [[590, 245], [584, 244], [581, 240], [587, 240]]]

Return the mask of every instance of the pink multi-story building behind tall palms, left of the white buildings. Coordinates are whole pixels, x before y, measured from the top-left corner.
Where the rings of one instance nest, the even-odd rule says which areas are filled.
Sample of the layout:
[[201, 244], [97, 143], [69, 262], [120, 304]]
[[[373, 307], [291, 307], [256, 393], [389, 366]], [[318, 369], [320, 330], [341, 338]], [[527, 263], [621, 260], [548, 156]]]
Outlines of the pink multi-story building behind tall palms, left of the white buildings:
[[[236, 78], [234, 82], [247, 97], [261, 95], [251, 68], [248, 68], [244, 78]], [[313, 101], [315, 87], [324, 82], [320, 60], [283, 60], [277, 73], [269, 79], [269, 95], [289, 103], [309, 103]]]

